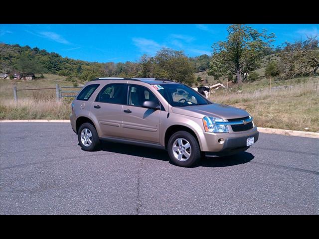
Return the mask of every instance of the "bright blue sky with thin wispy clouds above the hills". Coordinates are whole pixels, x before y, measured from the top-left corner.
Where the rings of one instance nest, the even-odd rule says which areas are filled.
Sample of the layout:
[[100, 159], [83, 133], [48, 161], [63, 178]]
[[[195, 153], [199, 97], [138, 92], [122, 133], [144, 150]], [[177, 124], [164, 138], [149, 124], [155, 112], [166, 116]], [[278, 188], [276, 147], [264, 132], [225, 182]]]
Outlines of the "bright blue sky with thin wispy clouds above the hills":
[[[276, 35], [274, 46], [319, 35], [319, 24], [248, 24]], [[0, 42], [39, 47], [63, 57], [97, 62], [137, 61], [161, 47], [187, 56], [210, 54], [229, 24], [0, 24]]]

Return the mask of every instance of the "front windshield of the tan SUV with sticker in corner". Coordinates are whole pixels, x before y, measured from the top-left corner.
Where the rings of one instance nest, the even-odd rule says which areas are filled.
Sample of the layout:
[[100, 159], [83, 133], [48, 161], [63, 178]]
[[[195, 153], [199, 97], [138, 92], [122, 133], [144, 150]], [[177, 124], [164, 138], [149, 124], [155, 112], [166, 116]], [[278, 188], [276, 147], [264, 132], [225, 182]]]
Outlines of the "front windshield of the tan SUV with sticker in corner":
[[188, 86], [181, 84], [160, 85], [163, 89], [158, 89], [160, 94], [171, 106], [198, 106], [211, 104], [198, 92]]

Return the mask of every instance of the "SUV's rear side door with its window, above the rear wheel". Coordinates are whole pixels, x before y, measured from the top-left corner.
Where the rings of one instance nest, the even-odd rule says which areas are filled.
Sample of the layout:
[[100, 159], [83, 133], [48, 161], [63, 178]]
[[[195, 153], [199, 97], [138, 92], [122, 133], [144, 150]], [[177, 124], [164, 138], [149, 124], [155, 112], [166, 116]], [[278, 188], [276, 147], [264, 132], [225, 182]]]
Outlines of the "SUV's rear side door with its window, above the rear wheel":
[[108, 84], [98, 93], [91, 113], [98, 119], [102, 137], [123, 137], [122, 108], [127, 102], [128, 84]]

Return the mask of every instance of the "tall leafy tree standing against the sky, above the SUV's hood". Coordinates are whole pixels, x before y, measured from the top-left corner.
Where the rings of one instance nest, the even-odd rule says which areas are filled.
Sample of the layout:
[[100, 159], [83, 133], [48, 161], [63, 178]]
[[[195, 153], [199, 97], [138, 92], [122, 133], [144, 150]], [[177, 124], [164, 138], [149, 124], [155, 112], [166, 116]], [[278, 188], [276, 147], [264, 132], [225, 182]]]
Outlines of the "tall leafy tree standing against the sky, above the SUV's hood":
[[236, 75], [235, 83], [242, 84], [245, 73], [260, 67], [260, 60], [269, 51], [275, 35], [267, 34], [265, 29], [258, 32], [245, 24], [230, 25], [227, 31], [227, 40], [212, 46], [208, 75], [218, 79], [230, 72]]

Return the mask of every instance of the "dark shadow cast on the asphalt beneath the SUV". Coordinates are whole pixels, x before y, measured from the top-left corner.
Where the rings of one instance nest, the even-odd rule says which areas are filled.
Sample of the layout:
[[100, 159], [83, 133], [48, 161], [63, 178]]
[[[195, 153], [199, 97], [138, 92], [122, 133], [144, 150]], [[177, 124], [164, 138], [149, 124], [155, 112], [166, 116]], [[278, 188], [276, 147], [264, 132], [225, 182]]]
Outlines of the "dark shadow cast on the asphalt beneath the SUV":
[[[100, 149], [97, 151], [113, 152], [144, 158], [152, 158], [161, 161], [169, 161], [169, 156], [166, 150], [123, 143], [101, 142]], [[229, 167], [248, 163], [253, 159], [254, 155], [248, 152], [240, 152], [235, 155], [224, 157], [202, 157], [199, 164], [195, 165], [194, 167]]]

